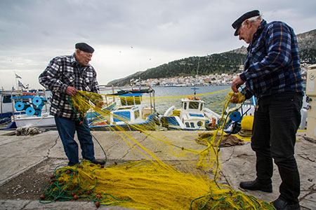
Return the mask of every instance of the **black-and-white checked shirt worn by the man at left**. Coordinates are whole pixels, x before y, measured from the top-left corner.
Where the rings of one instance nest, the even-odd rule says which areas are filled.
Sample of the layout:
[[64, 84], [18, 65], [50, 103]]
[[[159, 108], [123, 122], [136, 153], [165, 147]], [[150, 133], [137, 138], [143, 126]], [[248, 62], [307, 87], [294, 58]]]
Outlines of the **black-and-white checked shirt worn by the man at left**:
[[73, 55], [55, 57], [39, 75], [39, 83], [51, 90], [51, 115], [76, 120], [77, 115], [68, 103], [67, 86], [77, 90], [99, 92], [96, 70], [88, 64], [79, 72], [79, 63]]

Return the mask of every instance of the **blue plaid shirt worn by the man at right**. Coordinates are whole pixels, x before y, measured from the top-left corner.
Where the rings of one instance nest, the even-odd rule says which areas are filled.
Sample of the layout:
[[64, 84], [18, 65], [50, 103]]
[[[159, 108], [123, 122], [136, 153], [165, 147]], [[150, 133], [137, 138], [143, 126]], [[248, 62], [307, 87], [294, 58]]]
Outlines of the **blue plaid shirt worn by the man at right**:
[[244, 72], [246, 99], [282, 92], [303, 93], [296, 35], [284, 22], [261, 21], [248, 48]]

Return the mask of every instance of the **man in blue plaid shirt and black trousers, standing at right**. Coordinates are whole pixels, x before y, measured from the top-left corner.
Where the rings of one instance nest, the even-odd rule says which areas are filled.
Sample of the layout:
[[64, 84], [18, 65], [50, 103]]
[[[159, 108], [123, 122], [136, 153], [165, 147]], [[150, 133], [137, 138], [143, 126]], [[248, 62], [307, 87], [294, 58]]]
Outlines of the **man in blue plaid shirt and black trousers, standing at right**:
[[251, 148], [256, 152], [256, 179], [242, 181], [246, 190], [272, 193], [273, 162], [282, 183], [275, 209], [300, 209], [300, 177], [294, 146], [301, 123], [303, 85], [298, 45], [294, 30], [284, 22], [266, 22], [258, 10], [240, 16], [232, 23], [235, 36], [249, 43], [244, 71], [232, 80], [237, 102], [241, 90], [245, 99], [257, 99]]

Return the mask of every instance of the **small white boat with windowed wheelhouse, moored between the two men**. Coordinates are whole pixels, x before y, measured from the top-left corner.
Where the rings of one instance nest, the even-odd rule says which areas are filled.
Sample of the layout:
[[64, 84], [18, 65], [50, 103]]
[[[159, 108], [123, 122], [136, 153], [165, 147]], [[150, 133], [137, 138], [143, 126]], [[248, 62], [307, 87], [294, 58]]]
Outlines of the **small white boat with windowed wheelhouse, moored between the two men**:
[[160, 118], [162, 126], [169, 130], [212, 130], [220, 116], [207, 109], [199, 97], [181, 99], [181, 108], [171, 106]]

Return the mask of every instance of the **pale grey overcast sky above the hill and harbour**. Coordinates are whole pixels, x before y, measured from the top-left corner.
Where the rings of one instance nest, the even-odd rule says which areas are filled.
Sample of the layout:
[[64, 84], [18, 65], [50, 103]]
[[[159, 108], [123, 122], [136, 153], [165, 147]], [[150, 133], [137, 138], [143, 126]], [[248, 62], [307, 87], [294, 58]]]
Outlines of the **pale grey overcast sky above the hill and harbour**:
[[0, 0], [0, 87], [42, 88], [39, 74], [74, 44], [95, 48], [100, 84], [191, 56], [246, 46], [231, 27], [259, 9], [268, 22], [282, 20], [296, 34], [316, 29], [316, 1], [235, 0]]

